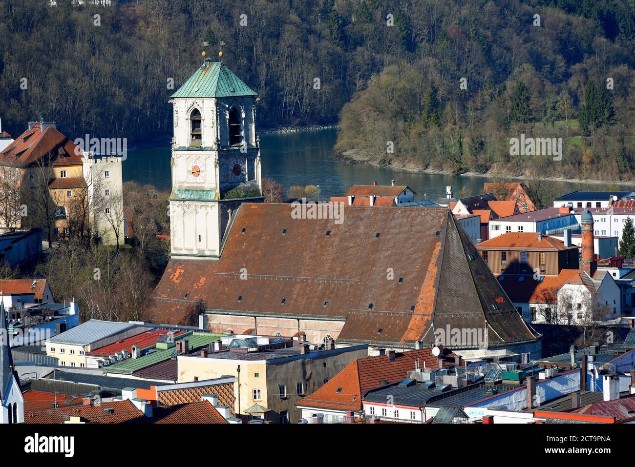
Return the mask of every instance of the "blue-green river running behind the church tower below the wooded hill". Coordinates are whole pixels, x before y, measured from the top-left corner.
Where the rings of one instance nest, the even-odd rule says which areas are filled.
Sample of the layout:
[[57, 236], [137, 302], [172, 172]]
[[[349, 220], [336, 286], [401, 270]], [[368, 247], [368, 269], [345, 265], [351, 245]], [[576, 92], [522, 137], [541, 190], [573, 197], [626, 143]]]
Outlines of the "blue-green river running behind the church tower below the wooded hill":
[[[350, 164], [331, 159], [337, 138], [335, 128], [269, 133], [260, 136], [262, 176], [281, 183], [285, 189], [294, 185], [319, 185], [320, 197], [344, 195], [352, 185], [408, 185], [417, 192], [416, 199], [445, 197], [446, 185], [455, 194], [465, 187], [467, 195], [483, 193], [482, 176], [460, 176], [401, 171], [370, 164]], [[128, 151], [123, 162], [123, 180], [151, 183], [159, 190], [170, 188], [170, 147], [140, 148]], [[554, 181], [565, 194], [592, 185]], [[602, 185], [594, 185], [603, 189]]]

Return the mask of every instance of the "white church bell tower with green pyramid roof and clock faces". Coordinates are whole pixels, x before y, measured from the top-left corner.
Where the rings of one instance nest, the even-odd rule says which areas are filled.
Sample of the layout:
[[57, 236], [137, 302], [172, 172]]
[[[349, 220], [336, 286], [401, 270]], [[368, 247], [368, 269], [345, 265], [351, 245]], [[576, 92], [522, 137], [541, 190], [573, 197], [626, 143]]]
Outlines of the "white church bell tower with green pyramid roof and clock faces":
[[256, 98], [210, 58], [171, 96], [172, 258], [219, 258], [232, 214], [244, 201], [263, 200]]

